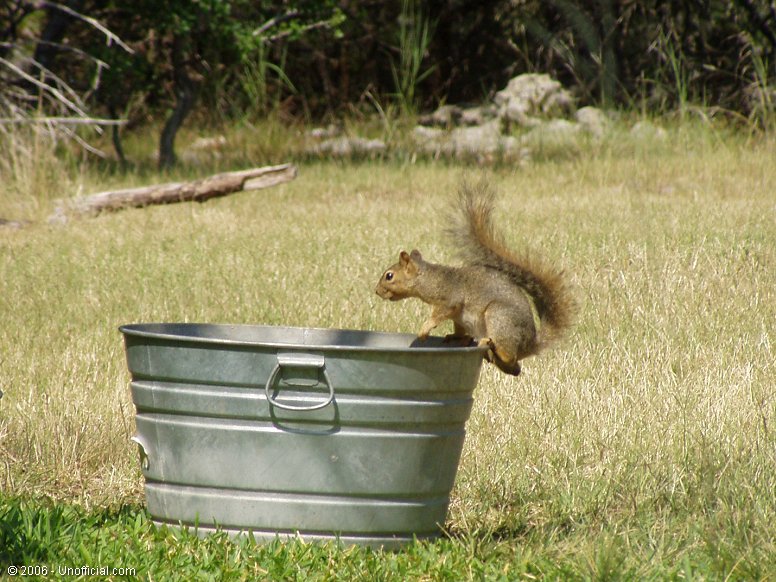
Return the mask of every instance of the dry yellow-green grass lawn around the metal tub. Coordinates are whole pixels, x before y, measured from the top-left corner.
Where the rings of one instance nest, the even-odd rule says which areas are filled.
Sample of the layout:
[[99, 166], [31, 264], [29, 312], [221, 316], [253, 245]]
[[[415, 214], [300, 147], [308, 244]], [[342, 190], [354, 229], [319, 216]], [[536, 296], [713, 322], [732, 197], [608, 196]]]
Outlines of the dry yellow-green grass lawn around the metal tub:
[[[267, 161], [252, 152], [220, 169]], [[36, 221], [0, 228], [2, 573], [775, 579], [774, 159], [772, 137], [686, 124], [488, 171], [497, 224], [566, 270], [579, 321], [518, 378], [483, 368], [446, 535], [395, 553], [155, 529], [117, 327], [415, 332], [428, 308], [374, 285], [402, 249], [456, 260], [445, 212], [479, 169], [306, 160], [276, 188], [62, 226], [44, 220], [53, 198], [158, 176], [2, 166], [0, 217]]]

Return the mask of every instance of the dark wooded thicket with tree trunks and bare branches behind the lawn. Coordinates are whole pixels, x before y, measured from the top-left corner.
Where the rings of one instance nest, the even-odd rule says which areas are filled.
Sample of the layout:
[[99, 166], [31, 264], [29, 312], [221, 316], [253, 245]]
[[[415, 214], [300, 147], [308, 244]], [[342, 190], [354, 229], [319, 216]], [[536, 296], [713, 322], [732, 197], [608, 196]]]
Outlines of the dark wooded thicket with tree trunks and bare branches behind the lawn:
[[0, 8], [0, 111], [64, 107], [128, 129], [163, 117], [161, 168], [193, 111], [217, 122], [412, 116], [537, 71], [580, 105], [694, 104], [767, 126], [774, 30], [764, 0], [14, 0]]

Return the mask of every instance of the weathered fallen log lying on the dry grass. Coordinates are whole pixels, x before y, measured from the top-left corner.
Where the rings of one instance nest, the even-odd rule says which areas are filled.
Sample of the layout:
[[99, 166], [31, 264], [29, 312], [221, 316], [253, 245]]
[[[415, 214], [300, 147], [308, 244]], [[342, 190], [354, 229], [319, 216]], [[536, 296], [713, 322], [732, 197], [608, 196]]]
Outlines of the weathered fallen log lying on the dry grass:
[[282, 164], [251, 170], [214, 174], [193, 182], [169, 182], [125, 190], [109, 190], [58, 202], [49, 222], [64, 222], [68, 216], [140, 208], [175, 202], [205, 202], [234, 192], [269, 188], [296, 178], [296, 166]]

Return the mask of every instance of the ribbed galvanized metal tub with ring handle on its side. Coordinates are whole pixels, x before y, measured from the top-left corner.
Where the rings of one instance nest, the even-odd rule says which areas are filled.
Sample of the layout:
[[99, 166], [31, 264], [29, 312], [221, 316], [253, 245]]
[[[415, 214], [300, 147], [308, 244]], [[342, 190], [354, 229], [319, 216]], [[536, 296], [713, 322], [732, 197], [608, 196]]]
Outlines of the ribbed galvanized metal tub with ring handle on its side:
[[156, 523], [385, 548], [439, 535], [482, 349], [333, 329], [120, 330]]

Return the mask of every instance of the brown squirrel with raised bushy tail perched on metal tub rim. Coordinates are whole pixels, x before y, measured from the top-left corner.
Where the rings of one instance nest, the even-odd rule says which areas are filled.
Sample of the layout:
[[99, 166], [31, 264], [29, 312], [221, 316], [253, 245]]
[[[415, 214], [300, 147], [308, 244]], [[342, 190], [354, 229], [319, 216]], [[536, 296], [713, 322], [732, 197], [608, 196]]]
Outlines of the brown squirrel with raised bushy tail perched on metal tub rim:
[[448, 229], [465, 264], [449, 267], [402, 251], [380, 277], [383, 299], [417, 297], [432, 307], [418, 338], [452, 319], [446, 341], [487, 347], [485, 359], [517, 376], [520, 361], [535, 355], [571, 327], [576, 304], [562, 272], [527, 255], [516, 256], [502, 242], [492, 221], [495, 194], [484, 181], [464, 183], [458, 193], [461, 218]]

